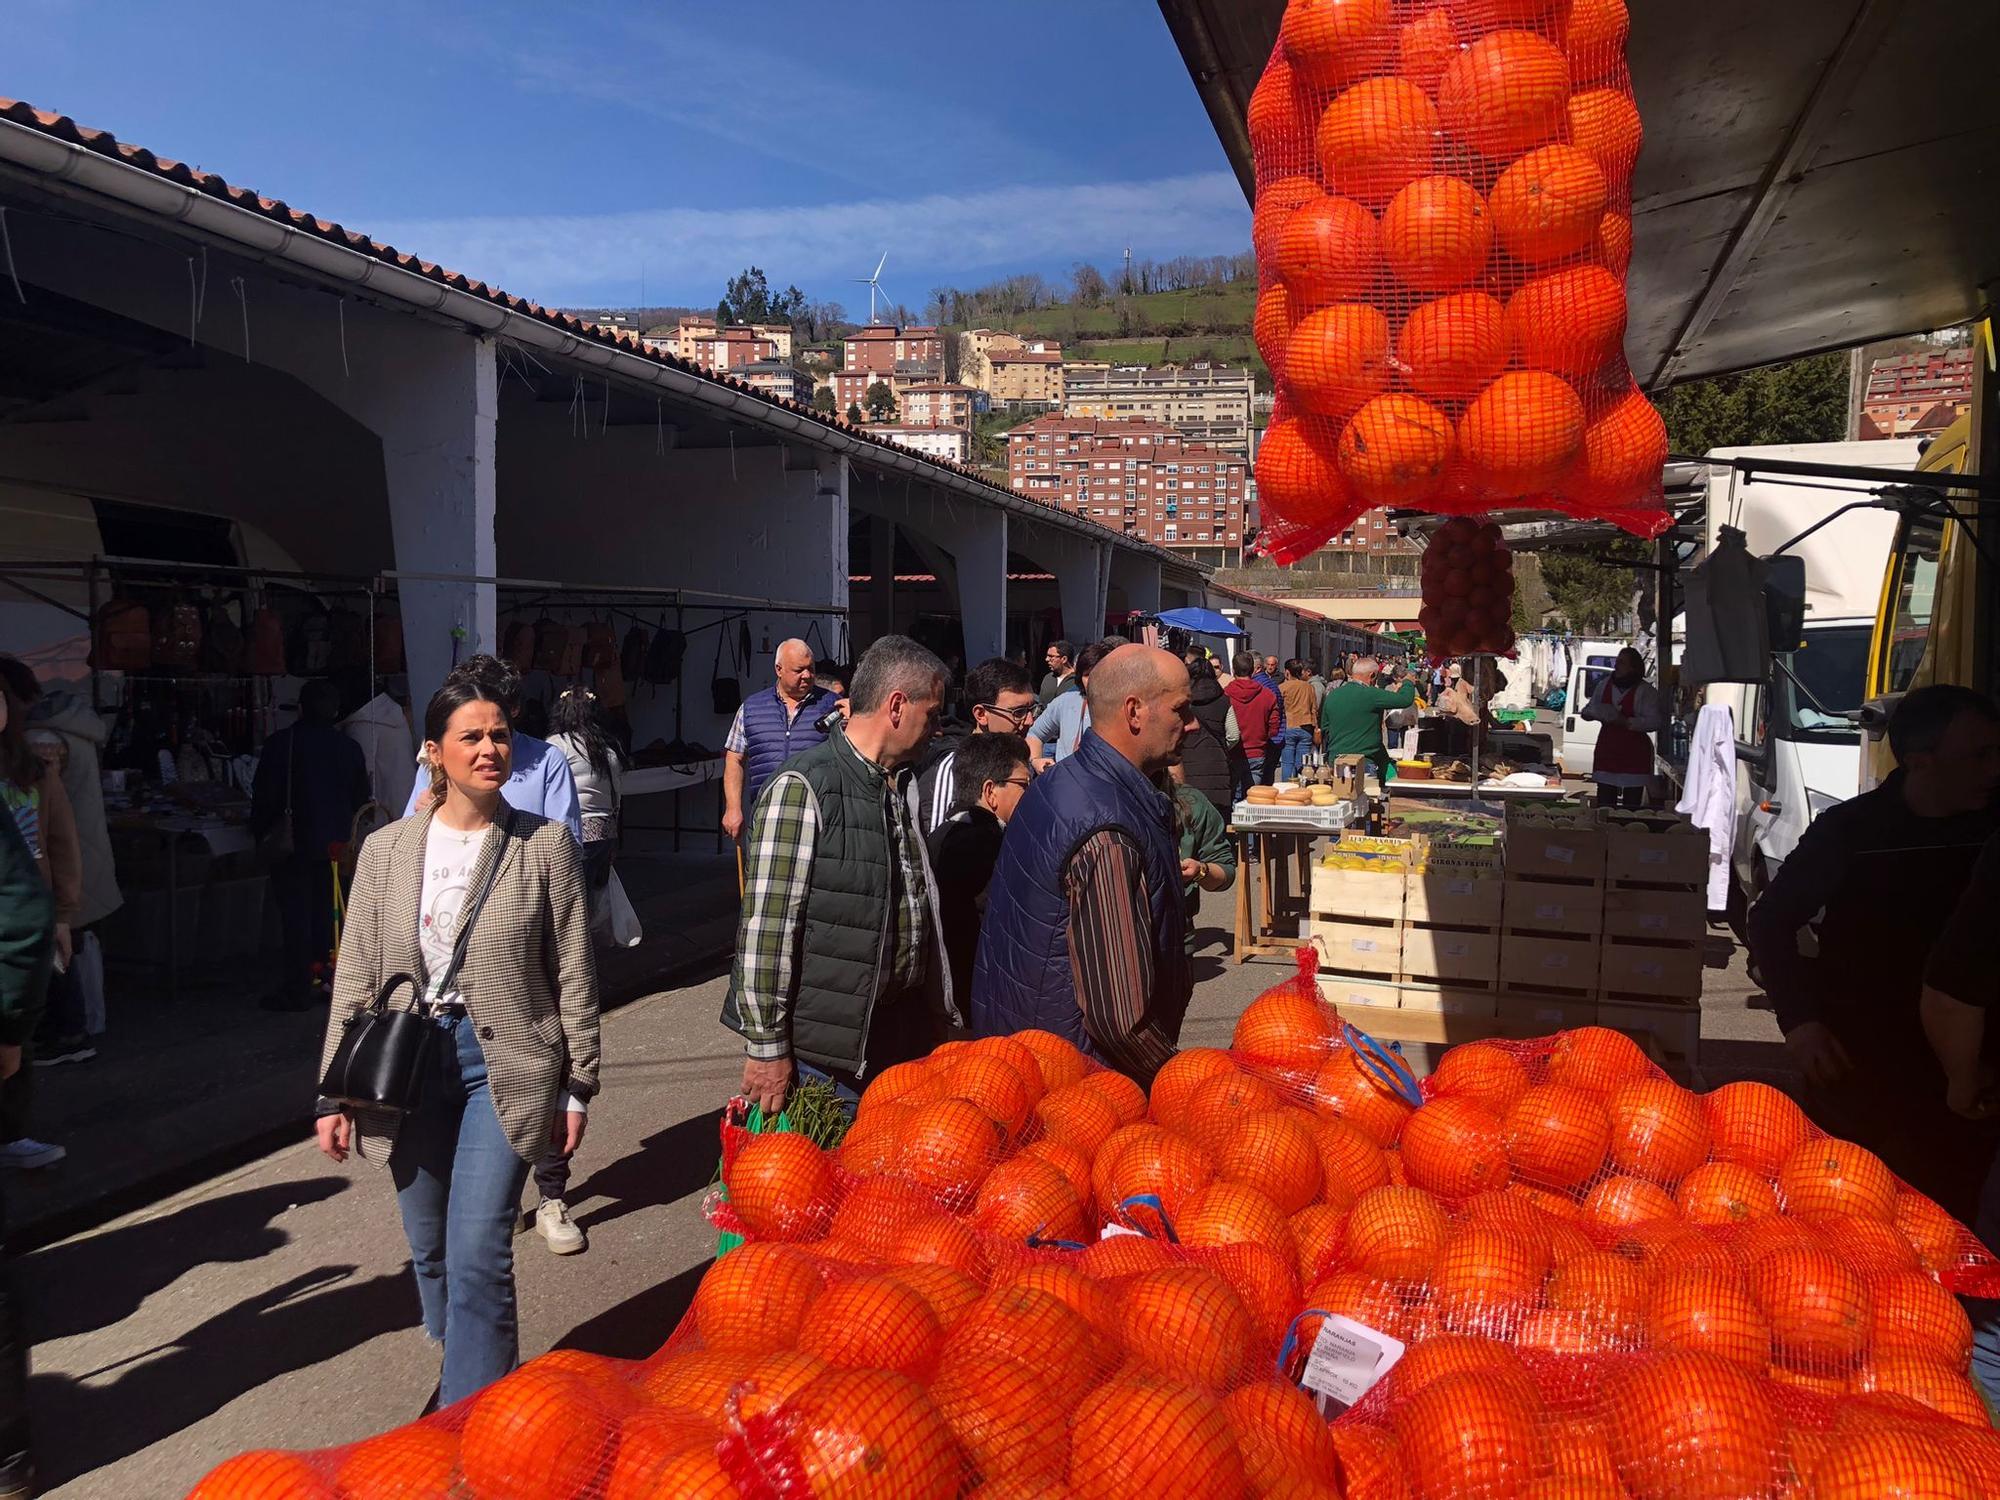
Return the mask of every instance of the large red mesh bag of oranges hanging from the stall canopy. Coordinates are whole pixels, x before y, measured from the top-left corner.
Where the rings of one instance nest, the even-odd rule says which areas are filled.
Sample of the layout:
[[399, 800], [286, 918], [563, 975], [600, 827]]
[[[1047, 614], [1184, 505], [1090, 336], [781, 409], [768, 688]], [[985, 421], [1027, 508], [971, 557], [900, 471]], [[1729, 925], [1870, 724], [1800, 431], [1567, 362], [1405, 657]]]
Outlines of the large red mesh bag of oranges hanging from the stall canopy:
[[1370, 506], [1666, 526], [1624, 362], [1626, 0], [1290, 0], [1250, 98], [1288, 562]]

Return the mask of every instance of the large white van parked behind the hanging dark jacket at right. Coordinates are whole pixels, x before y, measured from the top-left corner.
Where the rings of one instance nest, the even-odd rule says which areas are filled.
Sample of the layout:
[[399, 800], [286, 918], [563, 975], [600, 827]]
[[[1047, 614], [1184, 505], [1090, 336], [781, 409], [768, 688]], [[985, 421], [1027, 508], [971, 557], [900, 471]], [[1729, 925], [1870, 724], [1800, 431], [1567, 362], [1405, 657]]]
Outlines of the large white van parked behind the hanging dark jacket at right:
[[[1774, 444], [1716, 448], [1708, 456], [1908, 470], [1916, 468], [1918, 444], [1908, 438]], [[1766, 558], [1816, 520], [1862, 498], [1852, 484], [1746, 484], [1734, 470], [1710, 470], [1708, 544], [1714, 546], [1722, 526], [1734, 526], [1750, 554]], [[1846, 714], [1866, 696], [1868, 646], [1894, 540], [1894, 512], [1850, 510], [1790, 546], [1786, 554], [1806, 564], [1806, 644], [1776, 656], [1768, 682], [1716, 682], [1706, 690], [1708, 702], [1728, 704], [1736, 716], [1732, 864], [1750, 900], [1798, 846], [1808, 824], [1860, 788], [1862, 734]]]

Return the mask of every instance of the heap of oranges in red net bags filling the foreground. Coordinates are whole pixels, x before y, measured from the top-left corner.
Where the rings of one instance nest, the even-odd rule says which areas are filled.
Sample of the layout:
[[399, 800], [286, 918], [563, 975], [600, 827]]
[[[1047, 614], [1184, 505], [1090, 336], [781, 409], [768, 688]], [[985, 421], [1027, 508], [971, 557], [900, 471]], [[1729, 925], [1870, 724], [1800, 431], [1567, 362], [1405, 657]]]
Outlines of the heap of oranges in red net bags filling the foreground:
[[1690, 1094], [1616, 1032], [1418, 1088], [1306, 952], [1148, 1092], [1024, 1032], [886, 1070], [838, 1150], [724, 1152], [746, 1242], [654, 1358], [556, 1352], [196, 1494], [2000, 1494], [1952, 1294], [1992, 1256], [1782, 1094]]

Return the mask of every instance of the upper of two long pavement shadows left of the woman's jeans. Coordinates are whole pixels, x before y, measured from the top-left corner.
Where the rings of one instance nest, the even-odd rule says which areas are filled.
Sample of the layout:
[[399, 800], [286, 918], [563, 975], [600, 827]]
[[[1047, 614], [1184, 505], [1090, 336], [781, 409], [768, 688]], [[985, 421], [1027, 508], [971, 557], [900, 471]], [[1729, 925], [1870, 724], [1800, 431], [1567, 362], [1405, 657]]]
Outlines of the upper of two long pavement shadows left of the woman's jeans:
[[14, 1268], [28, 1286], [30, 1342], [124, 1322], [146, 1298], [198, 1266], [260, 1260], [292, 1238], [272, 1224], [278, 1214], [324, 1202], [350, 1186], [352, 1178], [322, 1176], [246, 1188], [38, 1250]]

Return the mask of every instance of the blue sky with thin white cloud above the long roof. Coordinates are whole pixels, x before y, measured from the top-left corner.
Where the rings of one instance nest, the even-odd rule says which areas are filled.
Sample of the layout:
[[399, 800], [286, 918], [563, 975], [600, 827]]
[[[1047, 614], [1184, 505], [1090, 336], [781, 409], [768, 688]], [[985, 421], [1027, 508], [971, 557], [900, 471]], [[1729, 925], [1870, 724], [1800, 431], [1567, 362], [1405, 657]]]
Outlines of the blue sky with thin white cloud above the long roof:
[[0, 94], [564, 306], [1250, 240], [1152, 0], [0, 0]]

